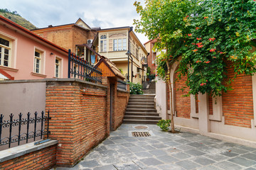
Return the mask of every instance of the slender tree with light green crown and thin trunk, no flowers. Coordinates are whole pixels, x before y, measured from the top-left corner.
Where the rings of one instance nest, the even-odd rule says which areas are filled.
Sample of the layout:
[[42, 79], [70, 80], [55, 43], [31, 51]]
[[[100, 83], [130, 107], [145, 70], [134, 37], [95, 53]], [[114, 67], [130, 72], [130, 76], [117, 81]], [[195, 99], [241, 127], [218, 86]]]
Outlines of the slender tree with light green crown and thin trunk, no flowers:
[[[196, 6], [194, 0], [146, 0], [145, 7], [135, 1], [140, 20], [134, 20], [135, 31], [145, 33], [149, 39], [156, 39], [154, 49], [161, 52], [157, 57], [157, 76], [165, 79], [170, 92], [172, 103], [172, 89], [170, 81], [171, 64], [174, 63], [176, 52], [183, 45], [183, 34], [188, 32], [188, 18]], [[163, 50], [165, 50], [163, 52]], [[171, 104], [170, 104], [171, 106]], [[171, 132], [174, 132], [174, 115], [171, 108]]]

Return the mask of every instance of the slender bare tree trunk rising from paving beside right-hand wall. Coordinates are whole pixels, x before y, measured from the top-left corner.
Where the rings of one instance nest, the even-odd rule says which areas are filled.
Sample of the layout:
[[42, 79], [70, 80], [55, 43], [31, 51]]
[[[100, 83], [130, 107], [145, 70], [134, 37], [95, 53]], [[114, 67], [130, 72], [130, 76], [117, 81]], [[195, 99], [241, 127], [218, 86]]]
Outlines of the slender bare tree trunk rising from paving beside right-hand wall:
[[173, 113], [173, 108], [172, 108], [172, 89], [171, 89], [171, 67], [169, 65], [169, 61], [166, 61], [167, 64], [167, 74], [166, 74], [166, 80], [167, 80], [167, 84], [169, 87], [169, 98], [170, 98], [170, 111], [171, 111], [171, 132], [175, 132], [175, 128], [174, 128], [174, 113]]

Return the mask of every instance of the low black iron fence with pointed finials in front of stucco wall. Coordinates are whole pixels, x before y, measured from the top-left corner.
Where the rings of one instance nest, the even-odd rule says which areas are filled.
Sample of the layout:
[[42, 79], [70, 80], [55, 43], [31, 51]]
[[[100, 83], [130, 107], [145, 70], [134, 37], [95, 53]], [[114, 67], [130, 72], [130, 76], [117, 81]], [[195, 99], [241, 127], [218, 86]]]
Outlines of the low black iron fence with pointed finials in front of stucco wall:
[[[41, 115], [36, 112], [33, 118], [31, 118], [31, 113], [29, 112], [26, 118], [22, 118], [22, 115], [22, 113], [19, 113], [18, 119], [14, 119], [14, 114], [11, 113], [9, 120], [4, 120], [4, 115], [0, 115], [0, 147], [3, 145], [9, 145], [11, 147], [11, 143], [14, 142], [18, 142], [18, 145], [20, 145], [20, 142], [23, 140], [26, 140], [26, 143], [28, 143], [28, 139], [33, 138], [33, 141], [35, 141], [36, 137], [40, 137], [42, 140], [43, 135], [46, 135], [48, 139], [50, 133], [49, 111], [47, 115], [43, 111]], [[45, 123], [47, 124], [45, 125]], [[33, 131], [29, 132], [29, 129], [33, 129]], [[3, 134], [7, 134], [7, 136], [2, 138]]]

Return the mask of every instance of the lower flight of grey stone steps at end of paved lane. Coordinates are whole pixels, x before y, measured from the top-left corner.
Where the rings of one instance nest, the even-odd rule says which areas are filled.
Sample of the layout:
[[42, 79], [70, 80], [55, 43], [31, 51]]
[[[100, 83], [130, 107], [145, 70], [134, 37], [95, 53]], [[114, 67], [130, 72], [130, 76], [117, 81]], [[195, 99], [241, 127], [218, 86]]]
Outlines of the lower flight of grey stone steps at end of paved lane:
[[155, 94], [132, 94], [124, 115], [124, 123], [156, 124], [161, 117], [154, 106]]

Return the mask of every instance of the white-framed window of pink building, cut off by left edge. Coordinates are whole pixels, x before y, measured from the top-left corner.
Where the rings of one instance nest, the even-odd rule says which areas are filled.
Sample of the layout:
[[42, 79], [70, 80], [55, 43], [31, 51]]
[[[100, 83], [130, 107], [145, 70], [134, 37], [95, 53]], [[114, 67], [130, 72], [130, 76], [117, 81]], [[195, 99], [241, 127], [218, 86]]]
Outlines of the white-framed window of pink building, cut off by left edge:
[[0, 38], [0, 65], [10, 67], [11, 43], [9, 40]]

